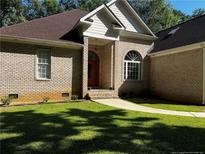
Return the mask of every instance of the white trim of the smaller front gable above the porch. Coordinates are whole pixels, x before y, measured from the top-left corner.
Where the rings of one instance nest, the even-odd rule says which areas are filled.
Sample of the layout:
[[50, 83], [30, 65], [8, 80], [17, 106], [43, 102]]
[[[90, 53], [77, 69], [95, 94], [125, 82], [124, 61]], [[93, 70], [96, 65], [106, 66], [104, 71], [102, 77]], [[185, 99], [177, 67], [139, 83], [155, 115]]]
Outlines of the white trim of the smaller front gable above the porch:
[[116, 28], [113, 26], [113, 28], [116, 28], [116, 29], [122, 29], [124, 30], [125, 29], [125, 26], [120, 22], [120, 20], [114, 15], [114, 13], [105, 5], [101, 5], [99, 6], [98, 8], [96, 8], [95, 10], [93, 10], [92, 12], [88, 13], [86, 16], [84, 16], [83, 18], [80, 19], [80, 22], [83, 22], [83, 23], [87, 23], [87, 24], [92, 24], [92, 22], [89, 22], [89, 21], [86, 21], [86, 19], [92, 17], [93, 15], [95, 15], [97, 12], [99, 12], [100, 10], [102, 9], [106, 9], [107, 12], [112, 16], [112, 18], [117, 21], [117, 23], [121, 26], [121, 28]]

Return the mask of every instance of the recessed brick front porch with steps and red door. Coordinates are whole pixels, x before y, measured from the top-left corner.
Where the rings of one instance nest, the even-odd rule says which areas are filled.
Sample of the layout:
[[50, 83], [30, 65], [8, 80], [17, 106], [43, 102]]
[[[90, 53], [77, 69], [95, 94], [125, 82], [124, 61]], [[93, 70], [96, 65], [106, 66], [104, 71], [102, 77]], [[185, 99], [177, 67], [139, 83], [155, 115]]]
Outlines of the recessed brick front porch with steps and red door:
[[[84, 95], [91, 98], [116, 98], [115, 84], [115, 42], [97, 38], [87, 38], [87, 83]], [[85, 49], [84, 49], [85, 52]]]

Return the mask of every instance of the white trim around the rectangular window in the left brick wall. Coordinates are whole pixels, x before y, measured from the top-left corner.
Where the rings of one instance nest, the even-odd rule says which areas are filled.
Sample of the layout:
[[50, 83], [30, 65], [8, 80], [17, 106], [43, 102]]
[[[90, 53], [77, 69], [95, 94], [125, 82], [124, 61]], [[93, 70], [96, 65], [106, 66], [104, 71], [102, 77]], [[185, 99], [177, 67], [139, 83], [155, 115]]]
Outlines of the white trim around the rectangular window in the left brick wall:
[[[38, 53], [40, 50], [49, 50], [50, 51], [50, 65], [51, 65], [51, 49], [48, 49], [48, 48], [38, 48], [37, 51], [36, 51], [36, 55], [35, 55], [35, 80], [37, 81], [50, 81], [51, 80], [51, 72], [50, 72], [50, 78], [40, 78], [38, 76]], [[49, 64], [48, 64], [49, 65]], [[51, 66], [50, 66], [51, 67]], [[51, 70], [50, 70], [51, 71]]]

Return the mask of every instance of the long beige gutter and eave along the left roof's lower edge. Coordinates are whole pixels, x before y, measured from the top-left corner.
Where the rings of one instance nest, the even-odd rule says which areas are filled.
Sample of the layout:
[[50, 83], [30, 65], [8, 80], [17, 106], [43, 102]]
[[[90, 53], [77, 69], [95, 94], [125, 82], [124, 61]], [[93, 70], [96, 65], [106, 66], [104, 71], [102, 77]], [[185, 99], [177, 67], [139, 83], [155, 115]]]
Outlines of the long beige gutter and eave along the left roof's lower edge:
[[37, 38], [28, 38], [28, 37], [18, 37], [11, 35], [0, 35], [0, 42], [13, 42], [13, 43], [22, 43], [22, 44], [33, 44], [33, 45], [42, 45], [42, 46], [51, 46], [51, 47], [62, 47], [70, 49], [82, 49], [83, 44], [75, 43], [71, 41], [55, 41], [55, 40], [46, 40], [46, 39], [37, 39]]

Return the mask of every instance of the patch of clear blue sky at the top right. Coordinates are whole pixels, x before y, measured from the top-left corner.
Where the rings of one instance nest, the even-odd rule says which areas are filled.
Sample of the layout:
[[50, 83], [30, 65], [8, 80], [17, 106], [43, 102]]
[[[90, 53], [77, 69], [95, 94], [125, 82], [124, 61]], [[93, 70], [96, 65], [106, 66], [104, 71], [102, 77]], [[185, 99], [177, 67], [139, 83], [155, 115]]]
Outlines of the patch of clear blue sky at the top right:
[[197, 8], [205, 9], [205, 0], [170, 0], [172, 6], [182, 12], [191, 15]]

